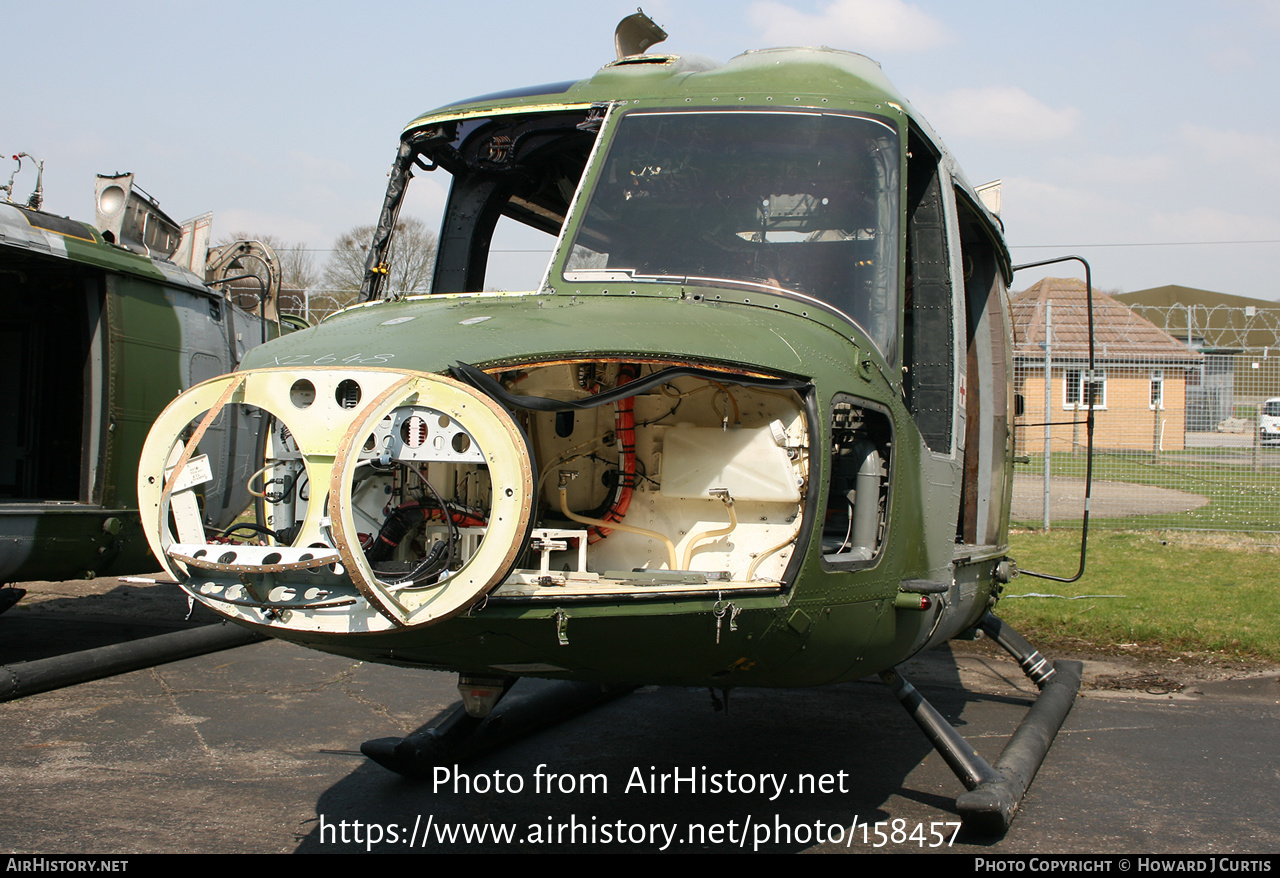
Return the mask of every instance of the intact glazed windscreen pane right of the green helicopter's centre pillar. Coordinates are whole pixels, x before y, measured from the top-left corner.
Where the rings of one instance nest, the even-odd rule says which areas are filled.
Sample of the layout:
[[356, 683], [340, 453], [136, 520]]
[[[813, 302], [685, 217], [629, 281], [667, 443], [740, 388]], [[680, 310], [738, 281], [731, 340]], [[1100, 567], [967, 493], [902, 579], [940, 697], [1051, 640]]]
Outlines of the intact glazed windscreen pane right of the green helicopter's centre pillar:
[[897, 132], [874, 118], [631, 111], [595, 179], [564, 279], [818, 301], [892, 362], [899, 163]]

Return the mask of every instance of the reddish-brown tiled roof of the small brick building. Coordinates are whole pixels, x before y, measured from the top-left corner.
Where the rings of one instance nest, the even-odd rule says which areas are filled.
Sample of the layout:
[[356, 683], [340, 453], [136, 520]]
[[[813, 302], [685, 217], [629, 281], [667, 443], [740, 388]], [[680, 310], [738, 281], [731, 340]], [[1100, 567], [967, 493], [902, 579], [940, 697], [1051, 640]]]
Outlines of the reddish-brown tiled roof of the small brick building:
[[[1050, 302], [1053, 357], [1088, 358], [1085, 289], [1084, 282], [1076, 278], [1044, 278], [1012, 294], [1014, 356], [1044, 357], [1044, 305]], [[1202, 355], [1098, 291], [1093, 291], [1093, 349], [1098, 362], [1197, 363], [1203, 360]]]

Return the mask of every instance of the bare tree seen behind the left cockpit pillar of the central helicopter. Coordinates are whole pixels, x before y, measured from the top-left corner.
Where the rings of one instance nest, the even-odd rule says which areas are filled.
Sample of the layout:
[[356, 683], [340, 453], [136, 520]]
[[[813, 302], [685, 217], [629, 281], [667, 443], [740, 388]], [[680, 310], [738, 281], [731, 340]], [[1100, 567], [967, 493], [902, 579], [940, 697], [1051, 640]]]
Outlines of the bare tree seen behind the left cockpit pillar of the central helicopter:
[[[365, 259], [374, 237], [372, 225], [358, 225], [340, 235], [324, 266], [321, 287], [343, 303], [355, 298], [365, 279]], [[392, 237], [390, 260], [383, 289], [393, 293], [425, 293], [435, 266], [435, 233], [413, 216], [402, 216]]]

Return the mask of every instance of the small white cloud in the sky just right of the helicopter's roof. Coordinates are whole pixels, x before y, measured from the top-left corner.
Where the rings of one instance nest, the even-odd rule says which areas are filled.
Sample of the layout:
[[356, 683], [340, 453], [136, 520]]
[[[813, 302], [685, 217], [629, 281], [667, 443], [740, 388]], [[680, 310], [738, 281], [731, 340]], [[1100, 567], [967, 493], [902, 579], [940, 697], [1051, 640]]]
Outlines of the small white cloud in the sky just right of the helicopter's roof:
[[1051, 141], [1073, 133], [1082, 118], [1074, 106], [1053, 109], [1016, 86], [955, 88], [914, 104], [947, 138]]

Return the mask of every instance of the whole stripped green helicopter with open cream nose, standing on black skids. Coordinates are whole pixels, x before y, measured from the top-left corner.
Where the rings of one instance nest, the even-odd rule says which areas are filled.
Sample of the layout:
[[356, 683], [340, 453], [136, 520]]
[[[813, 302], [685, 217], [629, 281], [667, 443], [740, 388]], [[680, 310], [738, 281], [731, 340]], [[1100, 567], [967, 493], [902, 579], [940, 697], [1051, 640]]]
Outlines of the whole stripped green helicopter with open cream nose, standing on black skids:
[[[998, 220], [879, 67], [643, 54], [401, 136], [362, 303], [156, 422], [138, 495], [197, 600], [316, 649], [457, 671], [461, 713], [366, 753], [412, 773], [512, 678], [714, 689], [881, 673], [1007, 827], [1079, 686], [991, 616], [1012, 573], [1011, 269]], [[430, 294], [384, 288], [415, 170], [452, 175]], [[481, 292], [499, 220], [554, 235]], [[192, 456], [273, 425], [257, 534], [206, 538]], [[1043, 686], [983, 762], [895, 666], [983, 626]], [[1028, 746], [1028, 737], [1041, 741]], [[443, 754], [443, 756], [442, 756]]]

